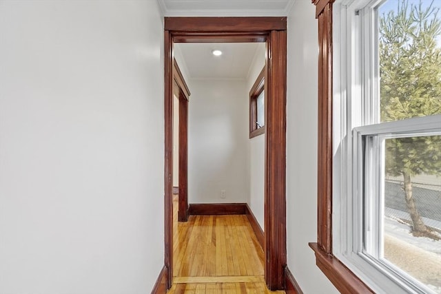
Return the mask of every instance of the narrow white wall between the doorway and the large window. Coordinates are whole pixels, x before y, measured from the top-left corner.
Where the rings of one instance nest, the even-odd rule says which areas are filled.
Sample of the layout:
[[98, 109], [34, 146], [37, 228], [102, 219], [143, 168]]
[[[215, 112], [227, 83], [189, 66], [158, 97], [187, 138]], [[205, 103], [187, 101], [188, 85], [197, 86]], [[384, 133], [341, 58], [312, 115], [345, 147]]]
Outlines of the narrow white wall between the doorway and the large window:
[[316, 266], [318, 23], [309, 0], [288, 17], [287, 258], [304, 293], [338, 293]]

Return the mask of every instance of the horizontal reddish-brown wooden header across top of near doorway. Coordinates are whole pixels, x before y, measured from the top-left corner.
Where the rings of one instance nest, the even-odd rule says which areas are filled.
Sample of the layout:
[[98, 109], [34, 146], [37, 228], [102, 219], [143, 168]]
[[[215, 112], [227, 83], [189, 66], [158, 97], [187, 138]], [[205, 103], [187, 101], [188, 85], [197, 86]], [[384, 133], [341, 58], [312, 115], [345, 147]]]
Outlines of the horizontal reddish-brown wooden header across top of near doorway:
[[286, 17], [165, 17], [174, 32], [264, 32], [286, 30]]

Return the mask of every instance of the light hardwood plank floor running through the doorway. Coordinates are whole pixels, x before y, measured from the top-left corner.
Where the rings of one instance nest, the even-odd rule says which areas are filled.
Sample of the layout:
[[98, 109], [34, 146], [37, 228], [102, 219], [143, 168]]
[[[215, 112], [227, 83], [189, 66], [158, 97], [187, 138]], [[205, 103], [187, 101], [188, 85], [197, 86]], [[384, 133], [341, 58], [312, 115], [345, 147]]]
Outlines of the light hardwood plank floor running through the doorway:
[[189, 216], [177, 222], [174, 198], [174, 278], [169, 294], [285, 293], [269, 291], [264, 253], [246, 216]]

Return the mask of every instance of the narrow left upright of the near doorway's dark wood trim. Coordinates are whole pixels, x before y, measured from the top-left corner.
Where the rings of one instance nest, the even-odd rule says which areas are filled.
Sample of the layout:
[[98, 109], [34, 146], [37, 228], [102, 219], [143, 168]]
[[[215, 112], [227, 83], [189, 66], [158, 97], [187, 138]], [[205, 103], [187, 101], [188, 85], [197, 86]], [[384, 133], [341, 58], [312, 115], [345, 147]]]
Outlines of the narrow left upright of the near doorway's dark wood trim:
[[164, 32], [164, 264], [167, 268], [167, 289], [173, 277], [173, 64], [172, 36]]

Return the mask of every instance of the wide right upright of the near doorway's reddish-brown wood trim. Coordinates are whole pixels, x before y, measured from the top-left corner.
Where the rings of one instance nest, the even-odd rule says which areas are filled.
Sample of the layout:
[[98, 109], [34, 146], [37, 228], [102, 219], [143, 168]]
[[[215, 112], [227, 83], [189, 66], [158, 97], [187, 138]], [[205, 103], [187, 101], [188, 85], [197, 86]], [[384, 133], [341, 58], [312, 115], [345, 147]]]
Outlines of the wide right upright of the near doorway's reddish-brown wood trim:
[[285, 286], [287, 32], [271, 31], [265, 74], [265, 281]]

